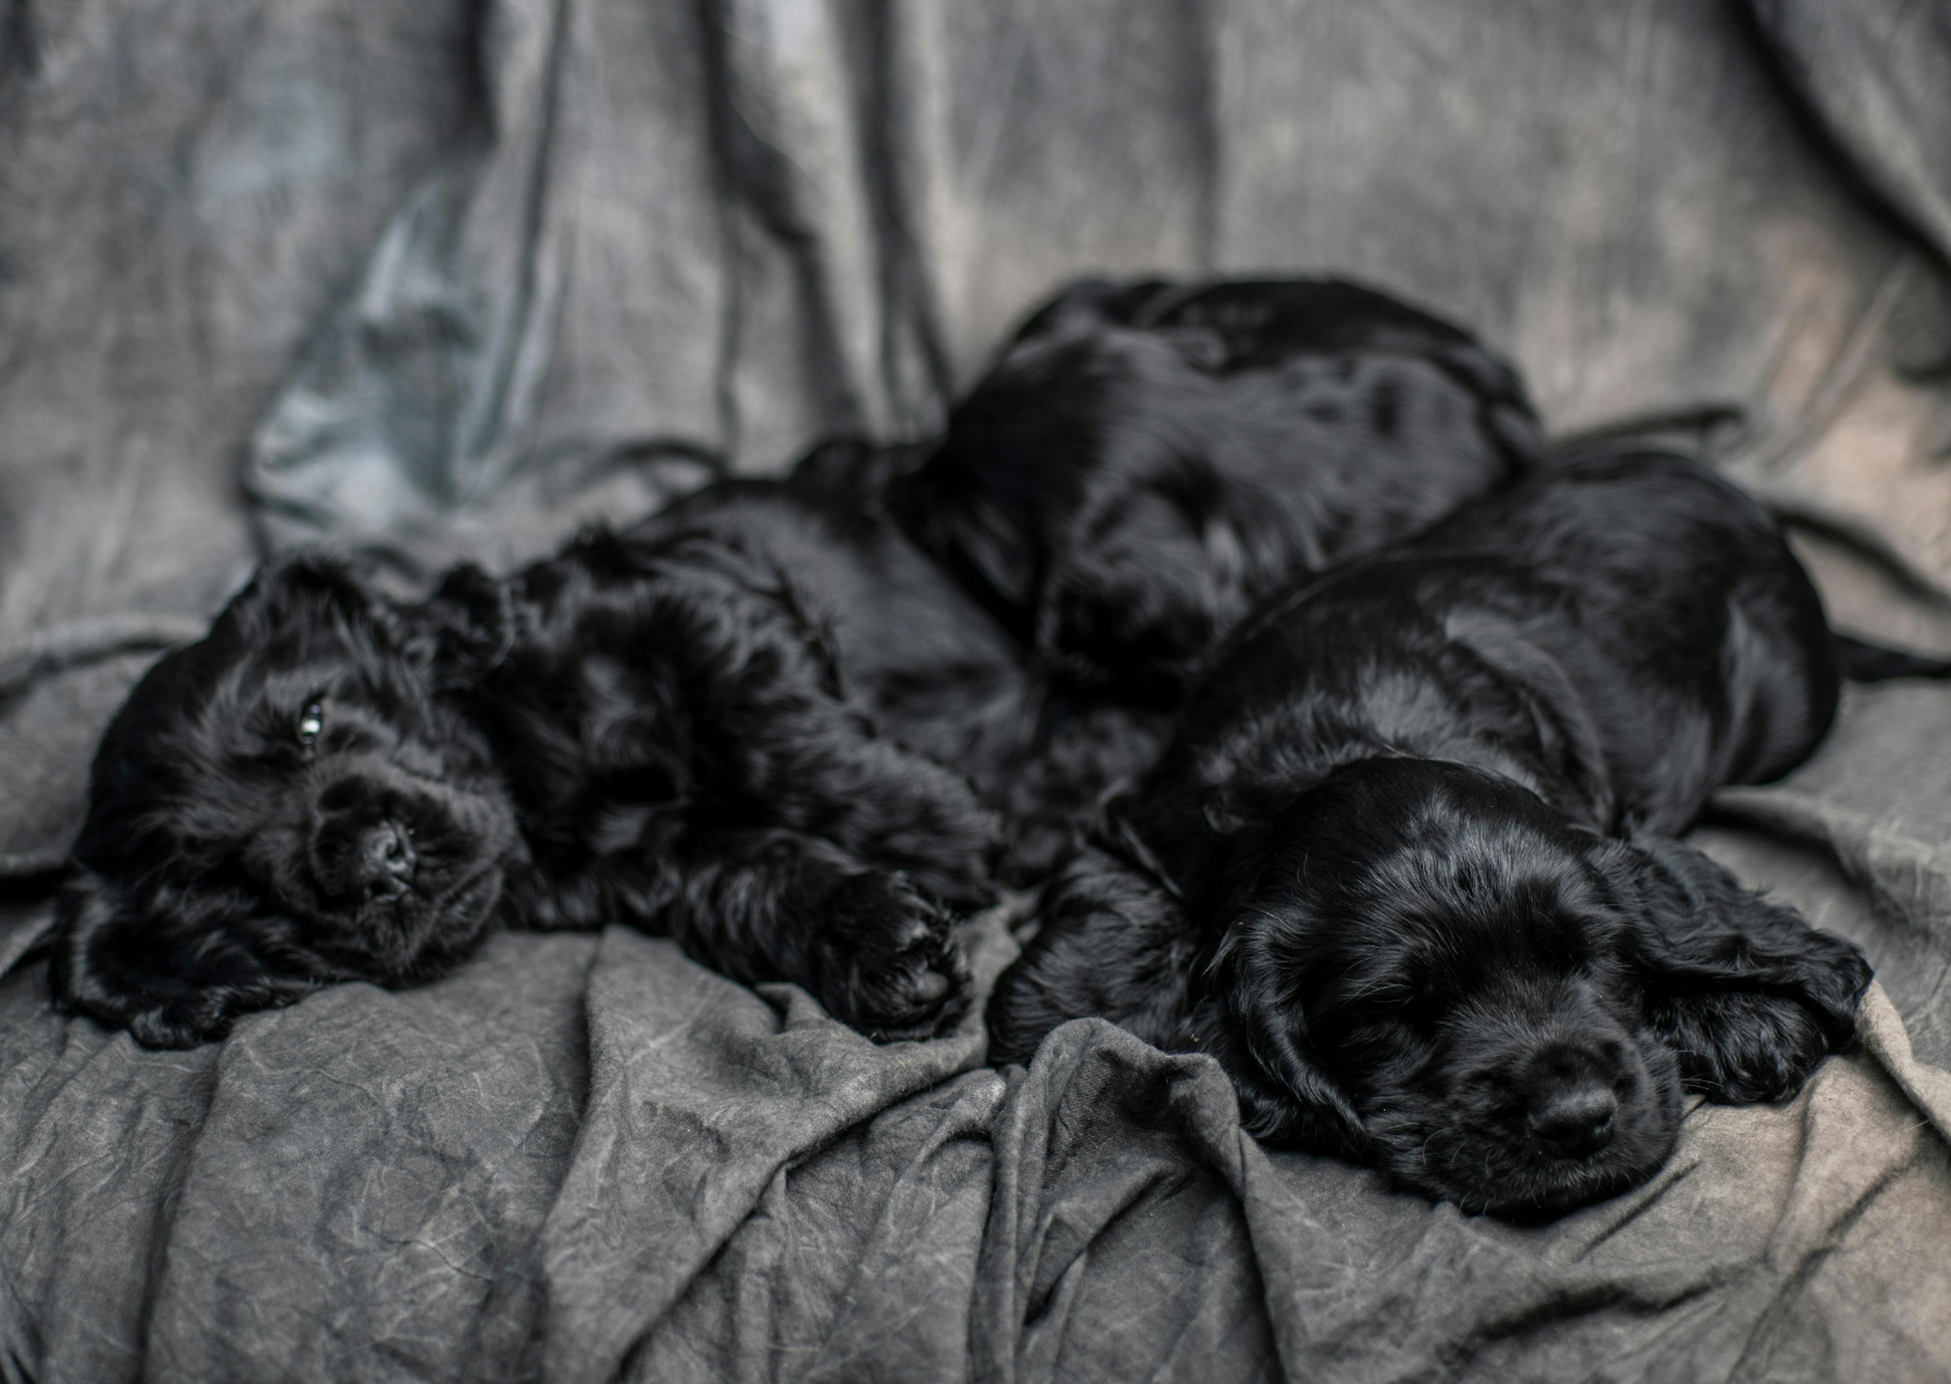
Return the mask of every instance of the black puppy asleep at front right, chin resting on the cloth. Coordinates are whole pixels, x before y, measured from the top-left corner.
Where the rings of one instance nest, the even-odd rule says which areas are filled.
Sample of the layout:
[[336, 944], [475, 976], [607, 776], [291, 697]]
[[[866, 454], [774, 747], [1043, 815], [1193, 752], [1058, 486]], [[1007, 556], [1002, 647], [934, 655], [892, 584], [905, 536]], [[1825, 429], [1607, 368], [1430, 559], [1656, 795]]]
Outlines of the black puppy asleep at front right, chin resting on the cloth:
[[1297, 584], [1046, 890], [991, 1056], [1104, 1015], [1214, 1054], [1256, 1136], [1467, 1210], [1643, 1181], [1682, 1089], [1781, 1099], [1851, 1038], [1857, 949], [1670, 837], [1801, 763], [1861, 654], [1770, 515], [1670, 455]]

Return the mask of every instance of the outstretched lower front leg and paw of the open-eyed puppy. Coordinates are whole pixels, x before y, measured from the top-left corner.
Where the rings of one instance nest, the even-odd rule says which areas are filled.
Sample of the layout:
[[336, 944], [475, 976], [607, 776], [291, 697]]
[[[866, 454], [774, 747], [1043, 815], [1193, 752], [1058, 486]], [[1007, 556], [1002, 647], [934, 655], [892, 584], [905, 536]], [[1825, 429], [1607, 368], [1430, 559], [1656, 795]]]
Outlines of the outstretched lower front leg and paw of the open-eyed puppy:
[[724, 837], [689, 865], [663, 914], [683, 949], [757, 984], [792, 980], [878, 1038], [925, 1038], [970, 997], [952, 917], [907, 876], [794, 832]]

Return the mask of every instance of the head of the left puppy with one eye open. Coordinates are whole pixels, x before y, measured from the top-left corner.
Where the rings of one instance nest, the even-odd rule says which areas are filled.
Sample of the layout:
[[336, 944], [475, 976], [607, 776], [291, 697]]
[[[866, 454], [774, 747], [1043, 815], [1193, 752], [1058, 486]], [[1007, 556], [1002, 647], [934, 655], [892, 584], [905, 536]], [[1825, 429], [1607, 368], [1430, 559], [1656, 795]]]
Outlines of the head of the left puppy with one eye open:
[[187, 1046], [326, 980], [423, 978], [480, 937], [519, 837], [437, 697], [439, 650], [466, 638], [414, 619], [287, 560], [137, 683], [96, 752], [59, 996]]

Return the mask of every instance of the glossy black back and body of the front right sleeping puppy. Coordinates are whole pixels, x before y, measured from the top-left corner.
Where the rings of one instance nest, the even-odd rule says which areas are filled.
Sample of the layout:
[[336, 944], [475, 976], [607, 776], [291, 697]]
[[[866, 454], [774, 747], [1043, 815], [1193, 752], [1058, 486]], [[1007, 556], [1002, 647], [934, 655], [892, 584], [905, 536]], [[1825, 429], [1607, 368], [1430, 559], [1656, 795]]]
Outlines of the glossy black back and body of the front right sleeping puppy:
[[1602, 830], [1678, 830], [1807, 757], [1836, 689], [1820, 599], [1758, 504], [1684, 457], [1573, 459], [1264, 601], [1155, 791], [1389, 752], [1506, 773]]

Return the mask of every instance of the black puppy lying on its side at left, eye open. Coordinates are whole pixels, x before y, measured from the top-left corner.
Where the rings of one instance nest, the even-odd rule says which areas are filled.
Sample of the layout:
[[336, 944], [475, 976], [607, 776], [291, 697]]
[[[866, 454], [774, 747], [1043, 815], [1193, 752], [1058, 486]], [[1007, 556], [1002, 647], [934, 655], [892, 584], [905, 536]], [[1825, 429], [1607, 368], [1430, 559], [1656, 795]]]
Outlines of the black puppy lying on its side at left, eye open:
[[995, 818], [909, 744], [985, 753], [1018, 670], [812, 484], [716, 484], [419, 603], [267, 564], [101, 740], [55, 992], [187, 1046], [326, 982], [437, 976], [498, 917], [626, 921], [925, 1037], [966, 1009], [950, 923], [991, 898]]

